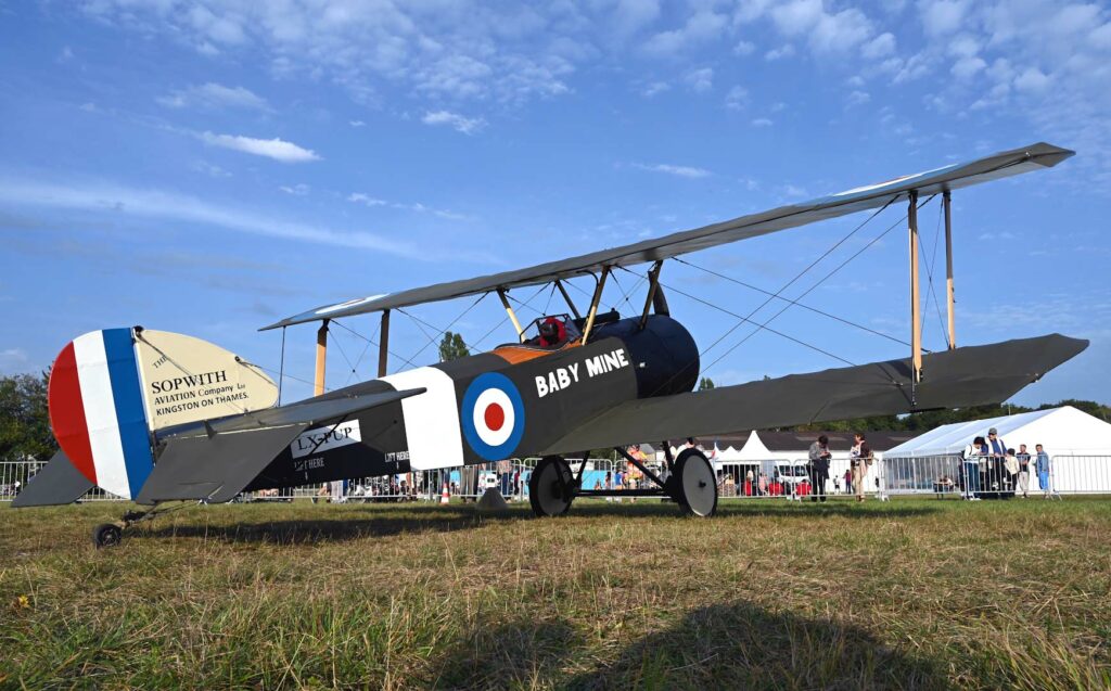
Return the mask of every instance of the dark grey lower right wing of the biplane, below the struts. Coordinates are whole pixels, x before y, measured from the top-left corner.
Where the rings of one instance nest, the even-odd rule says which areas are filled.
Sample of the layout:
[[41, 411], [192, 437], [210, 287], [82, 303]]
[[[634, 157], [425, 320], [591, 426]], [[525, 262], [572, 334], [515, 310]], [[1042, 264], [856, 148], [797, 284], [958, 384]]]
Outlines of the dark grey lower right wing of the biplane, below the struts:
[[629, 401], [541, 453], [998, 403], [1085, 348], [1088, 341], [1054, 333], [932, 353], [913, 394], [910, 360], [890, 360]]

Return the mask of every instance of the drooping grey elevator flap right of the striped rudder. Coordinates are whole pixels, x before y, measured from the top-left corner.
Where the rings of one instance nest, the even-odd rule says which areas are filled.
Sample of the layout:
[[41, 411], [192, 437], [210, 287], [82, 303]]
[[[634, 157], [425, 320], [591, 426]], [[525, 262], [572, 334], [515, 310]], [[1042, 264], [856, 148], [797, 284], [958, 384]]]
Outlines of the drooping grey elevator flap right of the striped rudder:
[[308, 422], [208, 437], [171, 439], [136, 503], [207, 499], [231, 501], [282, 452]]

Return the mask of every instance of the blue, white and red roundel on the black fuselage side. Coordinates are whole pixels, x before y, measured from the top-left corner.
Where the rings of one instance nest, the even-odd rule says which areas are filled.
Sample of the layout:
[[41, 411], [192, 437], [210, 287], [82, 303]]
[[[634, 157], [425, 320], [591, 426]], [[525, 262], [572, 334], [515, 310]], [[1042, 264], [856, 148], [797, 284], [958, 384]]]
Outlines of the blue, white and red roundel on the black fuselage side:
[[463, 434], [488, 461], [510, 458], [524, 434], [524, 402], [504, 374], [487, 372], [467, 387], [460, 411]]

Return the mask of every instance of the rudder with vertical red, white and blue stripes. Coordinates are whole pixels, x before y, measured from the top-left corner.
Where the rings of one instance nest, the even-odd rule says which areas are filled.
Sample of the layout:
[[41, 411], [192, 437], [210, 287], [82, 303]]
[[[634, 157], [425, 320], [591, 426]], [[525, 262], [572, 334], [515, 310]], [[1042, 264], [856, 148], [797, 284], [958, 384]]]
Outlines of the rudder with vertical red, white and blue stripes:
[[134, 499], [154, 467], [131, 329], [78, 337], [54, 361], [50, 425], [81, 474]]

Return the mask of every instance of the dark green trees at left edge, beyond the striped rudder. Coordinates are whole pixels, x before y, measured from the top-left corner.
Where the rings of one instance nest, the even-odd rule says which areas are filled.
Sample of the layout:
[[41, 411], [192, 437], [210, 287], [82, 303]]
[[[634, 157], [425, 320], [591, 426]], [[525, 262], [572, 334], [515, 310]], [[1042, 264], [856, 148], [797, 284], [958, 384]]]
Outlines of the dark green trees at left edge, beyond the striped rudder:
[[49, 460], [58, 451], [47, 410], [49, 372], [0, 377], [0, 460]]

